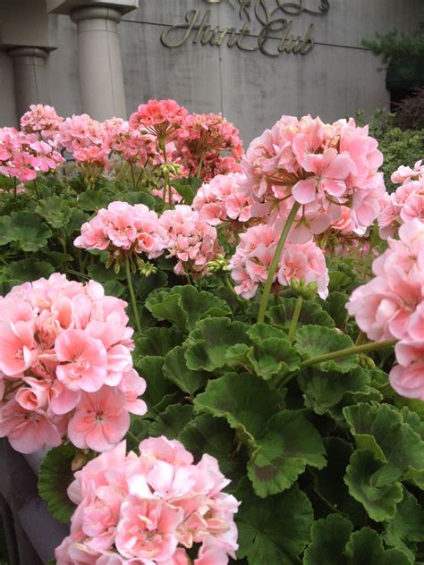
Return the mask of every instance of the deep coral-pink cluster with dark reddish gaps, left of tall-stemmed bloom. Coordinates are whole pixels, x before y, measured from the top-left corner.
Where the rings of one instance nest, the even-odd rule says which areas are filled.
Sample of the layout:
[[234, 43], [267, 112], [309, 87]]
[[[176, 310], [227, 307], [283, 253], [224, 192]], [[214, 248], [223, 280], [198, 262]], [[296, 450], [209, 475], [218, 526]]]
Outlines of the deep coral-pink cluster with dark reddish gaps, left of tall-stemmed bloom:
[[210, 181], [217, 174], [235, 173], [242, 167], [242, 139], [222, 114], [190, 114], [177, 131], [176, 157], [186, 176]]

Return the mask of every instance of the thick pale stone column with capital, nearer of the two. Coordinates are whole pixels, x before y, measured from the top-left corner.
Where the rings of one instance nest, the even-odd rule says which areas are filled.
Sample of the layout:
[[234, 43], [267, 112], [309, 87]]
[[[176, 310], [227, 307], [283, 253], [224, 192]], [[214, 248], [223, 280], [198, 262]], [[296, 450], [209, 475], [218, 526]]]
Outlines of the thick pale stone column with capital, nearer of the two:
[[118, 23], [122, 13], [112, 7], [88, 6], [72, 11], [77, 24], [82, 106], [97, 120], [126, 118], [123, 63]]

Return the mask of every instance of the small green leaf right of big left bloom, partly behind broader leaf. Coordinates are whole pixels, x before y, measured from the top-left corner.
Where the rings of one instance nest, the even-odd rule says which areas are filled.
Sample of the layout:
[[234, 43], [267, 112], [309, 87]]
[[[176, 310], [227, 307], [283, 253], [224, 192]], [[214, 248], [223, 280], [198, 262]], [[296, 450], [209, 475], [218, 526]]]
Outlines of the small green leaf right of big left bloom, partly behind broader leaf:
[[184, 357], [186, 348], [177, 345], [170, 350], [165, 357], [164, 375], [185, 392], [193, 396], [194, 392], [199, 391], [208, 383], [208, 373], [201, 371], [191, 371], [187, 368]]

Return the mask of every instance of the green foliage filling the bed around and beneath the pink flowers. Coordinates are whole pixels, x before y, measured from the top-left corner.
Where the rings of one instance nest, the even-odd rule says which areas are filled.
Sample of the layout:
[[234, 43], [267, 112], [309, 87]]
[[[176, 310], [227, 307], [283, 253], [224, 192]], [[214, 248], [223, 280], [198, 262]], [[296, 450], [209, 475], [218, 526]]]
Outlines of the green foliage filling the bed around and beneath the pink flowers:
[[[386, 153], [386, 175], [424, 154], [422, 132], [396, 129], [393, 120], [381, 113], [371, 128]], [[125, 274], [106, 269], [107, 252], [73, 246], [81, 224], [113, 200], [160, 212], [159, 198], [148, 193], [154, 175], [135, 190], [125, 175], [95, 186], [81, 175], [52, 174], [38, 182], [40, 198], [30, 190], [19, 198], [0, 193], [0, 291], [56, 271], [94, 279], [128, 301]], [[173, 184], [187, 202], [199, 187], [195, 179]], [[225, 240], [225, 249], [231, 255], [233, 242]], [[303, 300], [290, 339], [290, 289], [257, 324], [258, 301], [234, 297], [222, 273], [197, 280], [199, 290], [174, 274], [173, 258], [152, 266], [157, 272], [148, 277], [132, 274], [141, 317], [133, 359], [147, 382], [148, 412], [131, 416], [129, 447], [137, 451], [140, 440], [165, 434], [196, 461], [216, 457], [231, 480], [227, 492], [242, 502], [234, 562], [420, 563], [424, 403], [389, 390], [390, 351], [328, 358], [361, 339], [345, 303], [369, 266], [328, 260], [329, 297]], [[69, 444], [49, 451], [39, 475], [39, 493], [64, 522], [74, 510], [66, 489], [75, 454]], [[94, 455], [78, 452], [82, 460]]]

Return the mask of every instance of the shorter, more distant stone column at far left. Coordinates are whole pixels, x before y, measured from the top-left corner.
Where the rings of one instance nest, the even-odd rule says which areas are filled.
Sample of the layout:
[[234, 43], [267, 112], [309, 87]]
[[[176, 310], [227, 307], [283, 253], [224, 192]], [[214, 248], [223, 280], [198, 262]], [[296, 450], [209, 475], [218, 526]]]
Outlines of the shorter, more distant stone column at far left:
[[50, 104], [46, 59], [41, 47], [13, 47], [8, 51], [13, 59], [16, 110], [24, 114], [31, 104]]

